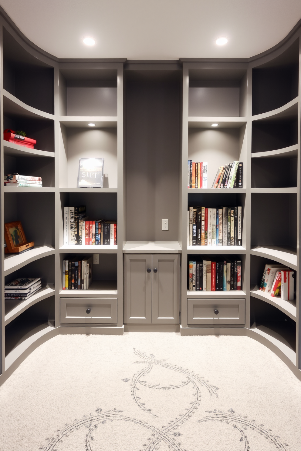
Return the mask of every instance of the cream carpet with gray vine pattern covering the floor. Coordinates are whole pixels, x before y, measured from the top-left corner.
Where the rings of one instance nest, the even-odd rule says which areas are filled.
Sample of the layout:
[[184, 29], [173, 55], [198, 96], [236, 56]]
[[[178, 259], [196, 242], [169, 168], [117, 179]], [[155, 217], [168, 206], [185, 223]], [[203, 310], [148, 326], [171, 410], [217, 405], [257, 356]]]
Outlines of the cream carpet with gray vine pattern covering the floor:
[[60, 335], [0, 387], [1, 451], [300, 451], [301, 382], [248, 337]]

